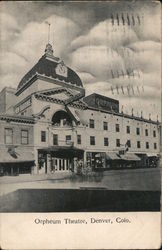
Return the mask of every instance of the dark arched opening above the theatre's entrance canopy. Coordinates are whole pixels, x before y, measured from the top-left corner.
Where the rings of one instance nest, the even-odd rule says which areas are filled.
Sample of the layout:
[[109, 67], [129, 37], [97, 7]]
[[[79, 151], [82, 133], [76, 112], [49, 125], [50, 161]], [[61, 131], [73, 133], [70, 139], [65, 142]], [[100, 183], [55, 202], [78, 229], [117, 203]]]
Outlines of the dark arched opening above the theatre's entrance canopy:
[[54, 126], [72, 126], [70, 115], [63, 111], [57, 111], [52, 117], [52, 125]]

